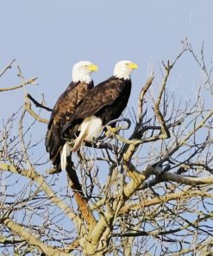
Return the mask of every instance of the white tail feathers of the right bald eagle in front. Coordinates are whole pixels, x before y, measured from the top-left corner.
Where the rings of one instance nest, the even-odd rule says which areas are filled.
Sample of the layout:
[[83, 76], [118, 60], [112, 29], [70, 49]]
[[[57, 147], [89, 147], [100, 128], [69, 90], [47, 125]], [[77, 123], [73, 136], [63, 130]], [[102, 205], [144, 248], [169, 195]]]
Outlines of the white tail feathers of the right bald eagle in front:
[[92, 141], [92, 138], [97, 138], [102, 130], [102, 119], [95, 116], [85, 118], [79, 129], [80, 134], [72, 148], [73, 152], [76, 152], [84, 141]]

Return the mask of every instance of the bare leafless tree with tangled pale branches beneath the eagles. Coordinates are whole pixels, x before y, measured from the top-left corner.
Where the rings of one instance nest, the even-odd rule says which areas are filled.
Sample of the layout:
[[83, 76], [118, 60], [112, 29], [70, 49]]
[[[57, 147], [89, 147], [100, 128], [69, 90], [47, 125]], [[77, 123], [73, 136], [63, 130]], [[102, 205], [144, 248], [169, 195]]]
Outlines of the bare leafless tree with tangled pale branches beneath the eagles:
[[[46, 170], [44, 141], [32, 136], [40, 131], [44, 137], [41, 115], [51, 109], [28, 94], [36, 78], [25, 80], [17, 67], [20, 85], [0, 89], [24, 89], [22, 107], [1, 130], [3, 255], [213, 253], [213, 66], [204, 61], [204, 45], [195, 54], [182, 43], [174, 61], [162, 62], [160, 86], [152, 73], [137, 109], [96, 145], [72, 154], [59, 174]], [[204, 74], [195, 100], [177, 99], [169, 88], [185, 54]]]

